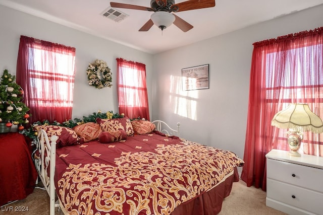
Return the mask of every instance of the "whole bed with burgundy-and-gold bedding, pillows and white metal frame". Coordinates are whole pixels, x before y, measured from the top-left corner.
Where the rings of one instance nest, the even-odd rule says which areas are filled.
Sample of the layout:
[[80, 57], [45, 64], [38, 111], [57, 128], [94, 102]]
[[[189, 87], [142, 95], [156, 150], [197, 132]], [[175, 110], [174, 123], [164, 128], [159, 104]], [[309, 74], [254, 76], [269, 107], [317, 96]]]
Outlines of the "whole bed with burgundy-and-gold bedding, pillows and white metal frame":
[[55, 205], [65, 214], [219, 213], [244, 162], [180, 138], [179, 126], [127, 117], [73, 129], [37, 126], [35, 163], [50, 214]]

